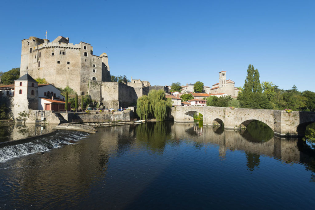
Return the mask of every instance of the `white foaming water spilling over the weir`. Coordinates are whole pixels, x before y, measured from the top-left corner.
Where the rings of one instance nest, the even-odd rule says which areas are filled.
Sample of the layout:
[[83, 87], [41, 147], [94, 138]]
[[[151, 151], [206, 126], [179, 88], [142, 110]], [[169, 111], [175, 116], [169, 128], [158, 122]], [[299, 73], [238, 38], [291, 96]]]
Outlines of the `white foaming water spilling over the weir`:
[[80, 140], [86, 135], [88, 133], [59, 131], [54, 135], [39, 136], [26, 143], [0, 145], [0, 162], [5, 162], [21, 155], [49, 151], [62, 145], [74, 144], [74, 141]]

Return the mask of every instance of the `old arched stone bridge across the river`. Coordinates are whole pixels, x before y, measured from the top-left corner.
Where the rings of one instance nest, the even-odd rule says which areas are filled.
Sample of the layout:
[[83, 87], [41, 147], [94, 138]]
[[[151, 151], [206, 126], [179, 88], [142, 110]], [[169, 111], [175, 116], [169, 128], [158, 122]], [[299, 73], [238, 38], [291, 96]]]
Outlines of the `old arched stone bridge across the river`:
[[282, 110], [243, 109], [215, 106], [172, 107], [175, 122], [193, 122], [195, 113], [203, 115], [204, 126], [224, 125], [226, 129], [245, 128], [249, 122], [259, 120], [266, 123], [278, 136], [302, 136], [306, 126], [315, 122], [315, 112]]

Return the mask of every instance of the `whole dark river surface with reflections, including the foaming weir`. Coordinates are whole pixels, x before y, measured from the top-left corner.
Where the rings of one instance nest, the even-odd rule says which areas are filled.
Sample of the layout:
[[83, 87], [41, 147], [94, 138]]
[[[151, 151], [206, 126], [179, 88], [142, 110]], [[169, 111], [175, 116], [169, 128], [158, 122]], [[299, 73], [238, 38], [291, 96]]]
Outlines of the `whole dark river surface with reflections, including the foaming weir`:
[[234, 131], [161, 122], [98, 131], [1, 147], [0, 208], [314, 207], [314, 153], [260, 125]]

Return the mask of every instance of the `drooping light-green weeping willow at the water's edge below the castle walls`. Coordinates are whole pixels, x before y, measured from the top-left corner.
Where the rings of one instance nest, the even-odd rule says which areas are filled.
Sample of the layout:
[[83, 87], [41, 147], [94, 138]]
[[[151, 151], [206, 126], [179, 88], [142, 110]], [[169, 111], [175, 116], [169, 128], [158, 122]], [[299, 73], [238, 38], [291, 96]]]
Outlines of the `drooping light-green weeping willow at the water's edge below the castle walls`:
[[163, 121], [171, 107], [172, 100], [165, 98], [163, 90], [151, 90], [147, 96], [138, 98], [136, 113], [140, 119], [152, 116], [156, 117], [157, 121]]

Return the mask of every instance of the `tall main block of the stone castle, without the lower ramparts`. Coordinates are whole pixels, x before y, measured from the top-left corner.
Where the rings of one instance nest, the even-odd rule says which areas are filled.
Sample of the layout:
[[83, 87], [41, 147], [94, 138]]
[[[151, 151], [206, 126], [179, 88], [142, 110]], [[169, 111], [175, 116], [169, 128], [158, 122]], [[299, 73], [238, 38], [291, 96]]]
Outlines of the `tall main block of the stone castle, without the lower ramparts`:
[[61, 36], [52, 42], [37, 37], [22, 40], [20, 77], [26, 72], [83, 95], [88, 92], [89, 80], [111, 81], [106, 53], [93, 55], [90, 44], [71, 44], [68, 37]]

